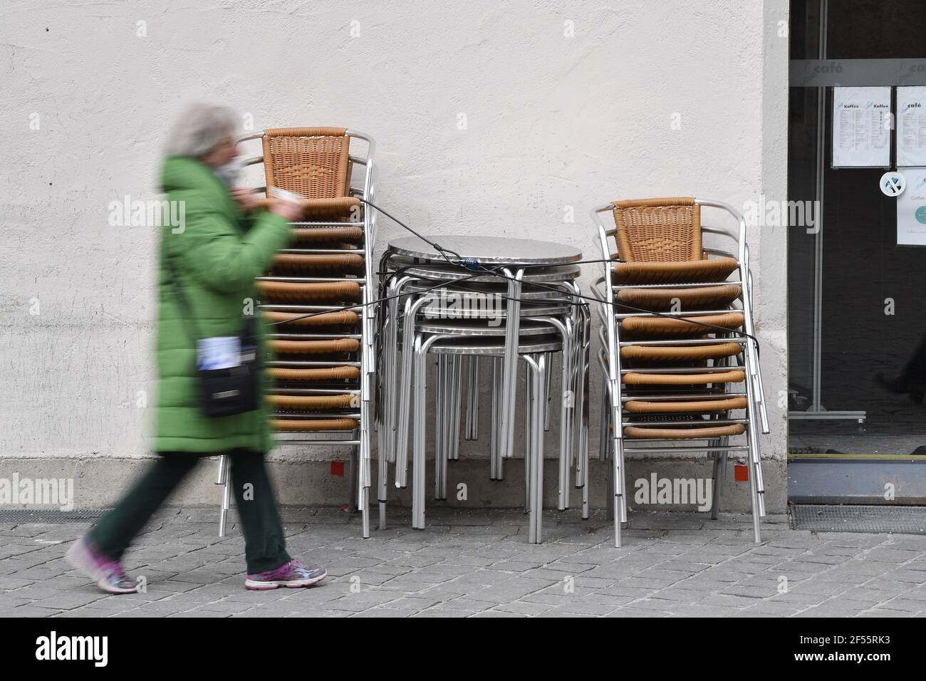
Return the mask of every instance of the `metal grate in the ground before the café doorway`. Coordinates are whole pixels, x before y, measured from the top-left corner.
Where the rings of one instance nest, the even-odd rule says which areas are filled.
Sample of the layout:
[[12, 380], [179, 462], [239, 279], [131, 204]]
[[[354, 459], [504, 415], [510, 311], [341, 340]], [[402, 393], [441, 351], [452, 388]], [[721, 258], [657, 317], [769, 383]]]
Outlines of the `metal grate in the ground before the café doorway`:
[[926, 506], [795, 504], [788, 515], [793, 530], [926, 535]]

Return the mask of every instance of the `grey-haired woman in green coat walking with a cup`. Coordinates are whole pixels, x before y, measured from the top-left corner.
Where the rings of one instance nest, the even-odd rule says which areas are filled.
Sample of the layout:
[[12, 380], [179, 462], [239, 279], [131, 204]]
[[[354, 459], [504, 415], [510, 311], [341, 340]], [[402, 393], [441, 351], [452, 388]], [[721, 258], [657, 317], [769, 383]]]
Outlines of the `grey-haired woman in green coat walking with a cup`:
[[[254, 278], [288, 244], [288, 222], [299, 217], [300, 208], [274, 202], [269, 211], [253, 210], [257, 195], [233, 186], [240, 168], [235, 162], [236, 129], [228, 109], [194, 105], [170, 132], [161, 183], [170, 206], [181, 207], [183, 221], [179, 227], [161, 227], [154, 447], [158, 457], [67, 555], [74, 567], [109, 593], [137, 590], [122, 569], [122, 554], [198, 460], [219, 454], [232, 460], [247, 561], [244, 586], [311, 586], [327, 574], [318, 566], [294, 561], [286, 552], [264, 465], [272, 440], [261, 397], [259, 358], [265, 355], [265, 344], [253, 313]], [[245, 363], [248, 359], [252, 361]], [[243, 368], [248, 369], [244, 374], [250, 376], [250, 384], [242, 378]], [[222, 376], [218, 384], [204, 384], [204, 375], [217, 373]], [[243, 401], [248, 393], [251, 403]]]

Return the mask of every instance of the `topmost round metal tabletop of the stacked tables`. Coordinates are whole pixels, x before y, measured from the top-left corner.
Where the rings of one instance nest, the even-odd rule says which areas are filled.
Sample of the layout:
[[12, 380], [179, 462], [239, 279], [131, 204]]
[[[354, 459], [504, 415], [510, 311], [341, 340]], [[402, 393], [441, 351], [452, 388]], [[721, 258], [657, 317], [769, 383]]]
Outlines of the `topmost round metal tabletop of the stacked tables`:
[[[427, 235], [427, 238], [462, 258], [476, 258], [481, 263], [551, 265], [575, 262], [582, 259], [582, 251], [552, 241], [514, 239], [507, 236], [464, 236], [461, 234]], [[437, 250], [417, 236], [403, 236], [389, 242], [390, 250], [409, 258], [444, 260]]]

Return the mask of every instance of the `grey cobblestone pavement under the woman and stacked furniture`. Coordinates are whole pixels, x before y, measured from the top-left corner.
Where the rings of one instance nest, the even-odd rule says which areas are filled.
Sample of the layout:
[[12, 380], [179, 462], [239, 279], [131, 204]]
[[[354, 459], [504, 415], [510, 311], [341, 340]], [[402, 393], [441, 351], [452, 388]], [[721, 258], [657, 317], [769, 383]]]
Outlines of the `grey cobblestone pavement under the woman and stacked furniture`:
[[544, 513], [527, 544], [519, 511], [429, 510], [428, 529], [391, 511], [359, 536], [357, 518], [286, 509], [294, 556], [329, 573], [310, 589], [244, 589], [236, 527], [214, 509], [169, 508], [126, 556], [147, 592], [107, 596], [63, 555], [86, 523], [0, 525], [0, 615], [32, 617], [926, 616], [926, 536], [816, 534], [783, 516], [752, 542], [748, 516], [632, 514], [622, 549], [600, 513]]

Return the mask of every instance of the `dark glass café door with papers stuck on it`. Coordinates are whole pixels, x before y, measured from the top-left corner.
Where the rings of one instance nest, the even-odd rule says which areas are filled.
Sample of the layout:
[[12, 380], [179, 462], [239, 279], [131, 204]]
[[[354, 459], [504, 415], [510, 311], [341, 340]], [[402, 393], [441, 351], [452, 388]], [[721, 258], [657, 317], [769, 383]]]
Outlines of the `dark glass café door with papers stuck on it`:
[[789, 453], [926, 460], [926, 246], [898, 246], [880, 188], [893, 119], [886, 167], [832, 164], [835, 88], [890, 88], [896, 111], [926, 85], [926, 2], [794, 0], [790, 41]]

